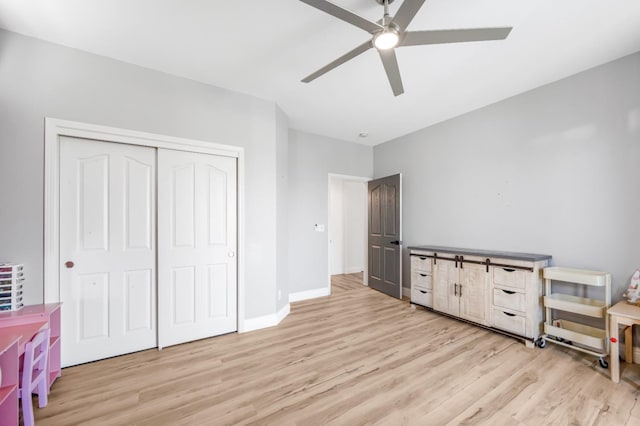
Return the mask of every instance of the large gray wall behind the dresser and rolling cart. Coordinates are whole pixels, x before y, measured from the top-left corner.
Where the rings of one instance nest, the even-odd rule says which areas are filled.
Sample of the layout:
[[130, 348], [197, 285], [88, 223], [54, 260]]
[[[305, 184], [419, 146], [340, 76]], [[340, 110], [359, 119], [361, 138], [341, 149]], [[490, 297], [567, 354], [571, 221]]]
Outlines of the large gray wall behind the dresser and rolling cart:
[[640, 53], [378, 145], [374, 163], [403, 173], [407, 245], [551, 254], [611, 272], [617, 300], [640, 266]]

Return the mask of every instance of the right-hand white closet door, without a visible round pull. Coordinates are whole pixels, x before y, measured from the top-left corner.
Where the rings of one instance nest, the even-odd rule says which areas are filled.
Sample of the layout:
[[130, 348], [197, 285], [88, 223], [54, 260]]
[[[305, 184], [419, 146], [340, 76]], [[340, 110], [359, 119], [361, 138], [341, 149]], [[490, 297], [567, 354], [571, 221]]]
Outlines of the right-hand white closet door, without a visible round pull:
[[236, 331], [236, 159], [158, 149], [158, 346]]

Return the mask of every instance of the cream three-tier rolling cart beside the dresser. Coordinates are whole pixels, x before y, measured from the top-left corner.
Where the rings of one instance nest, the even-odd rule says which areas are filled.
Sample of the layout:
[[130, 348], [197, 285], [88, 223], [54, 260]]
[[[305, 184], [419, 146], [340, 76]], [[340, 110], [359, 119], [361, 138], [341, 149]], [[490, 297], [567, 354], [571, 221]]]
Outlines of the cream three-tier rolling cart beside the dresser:
[[[546, 320], [544, 334], [541, 336], [539, 346], [544, 347], [545, 342], [551, 342], [585, 352], [599, 357], [600, 365], [606, 368], [608, 364], [604, 357], [609, 354], [607, 309], [611, 306], [611, 274], [601, 271], [553, 266], [544, 268], [542, 277], [545, 287], [544, 307]], [[602, 299], [589, 299], [569, 294], [553, 293], [551, 281], [563, 281], [576, 286], [600, 287], [604, 295]], [[592, 327], [566, 319], [555, 319], [552, 316], [552, 310], [600, 318], [604, 321], [604, 328]]]

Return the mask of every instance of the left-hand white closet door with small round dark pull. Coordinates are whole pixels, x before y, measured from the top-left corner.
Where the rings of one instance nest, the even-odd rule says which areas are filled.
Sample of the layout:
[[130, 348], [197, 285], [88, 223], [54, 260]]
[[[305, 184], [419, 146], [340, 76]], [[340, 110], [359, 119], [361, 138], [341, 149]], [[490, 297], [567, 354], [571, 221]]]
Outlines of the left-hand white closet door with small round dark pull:
[[156, 346], [155, 149], [60, 140], [62, 365]]

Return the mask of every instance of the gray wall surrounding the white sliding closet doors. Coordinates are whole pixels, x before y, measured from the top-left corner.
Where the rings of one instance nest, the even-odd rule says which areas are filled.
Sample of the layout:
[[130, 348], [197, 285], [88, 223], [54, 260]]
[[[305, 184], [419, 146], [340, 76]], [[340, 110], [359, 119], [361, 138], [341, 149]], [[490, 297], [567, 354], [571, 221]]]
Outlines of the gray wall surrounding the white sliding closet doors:
[[271, 102], [0, 31], [0, 260], [25, 264], [26, 302], [43, 300], [43, 134], [54, 117], [245, 147], [246, 316], [273, 314], [277, 114]]

